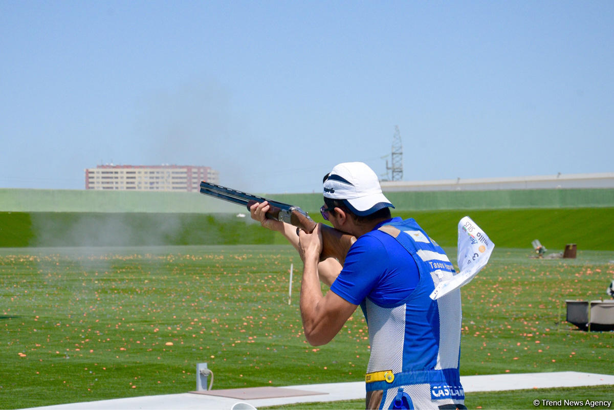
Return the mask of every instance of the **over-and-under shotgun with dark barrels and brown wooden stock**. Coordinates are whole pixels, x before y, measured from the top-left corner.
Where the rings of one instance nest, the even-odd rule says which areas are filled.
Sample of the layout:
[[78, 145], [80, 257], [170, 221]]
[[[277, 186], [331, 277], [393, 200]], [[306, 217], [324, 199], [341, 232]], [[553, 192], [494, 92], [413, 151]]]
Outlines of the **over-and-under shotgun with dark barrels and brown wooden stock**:
[[[284, 204], [282, 202], [273, 201], [272, 199], [262, 198], [262, 196], [252, 195], [204, 181], [200, 183], [200, 193], [246, 206], [247, 211], [249, 211], [249, 208], [255, 203], [267, 201], [270, 204], [270, 209], [266, 212], [266, 217], [268, 219], [289, 223], [306, 233], [312, 233], [313, 230], [316, 229], [316, 222], [309, 217], [307, 212], [303, 211], [298, 206]], [[322, 253], [320, 259], [324, 260], [330, 257], [336, 258], [336, 260], [343, 265], [350, 247], [356, 242], [356, 237], [324, 224], [322, 224], [321, 231]]]

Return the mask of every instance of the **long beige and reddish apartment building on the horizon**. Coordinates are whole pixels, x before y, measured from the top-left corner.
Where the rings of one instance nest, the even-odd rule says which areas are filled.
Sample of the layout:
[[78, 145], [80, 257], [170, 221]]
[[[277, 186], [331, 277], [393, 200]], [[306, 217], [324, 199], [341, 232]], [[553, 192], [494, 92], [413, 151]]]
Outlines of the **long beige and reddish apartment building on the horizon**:
[[219, 172], [195, 165], [98, 165], [85, 169], [85, 189], [199, 191], [200, 182], [219, 184]]

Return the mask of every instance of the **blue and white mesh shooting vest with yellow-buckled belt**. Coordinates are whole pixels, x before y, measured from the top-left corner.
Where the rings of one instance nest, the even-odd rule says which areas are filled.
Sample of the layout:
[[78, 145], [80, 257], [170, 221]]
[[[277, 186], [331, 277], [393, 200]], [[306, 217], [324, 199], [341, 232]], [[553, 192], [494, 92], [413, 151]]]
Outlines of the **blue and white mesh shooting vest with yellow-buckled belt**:
[[[399, 306], [365, 300], [371, 357], [367, 392], [383, 390], [379, 408], [437, 408], [463, 404], [459, 375], [461, 292], [438, 300], [430, 293], [456, 271], [441, 247], [413, 219], [379, 227], [418, 265], [419, 282]], [[368, 393], [369, 396], [369, 393]]]

